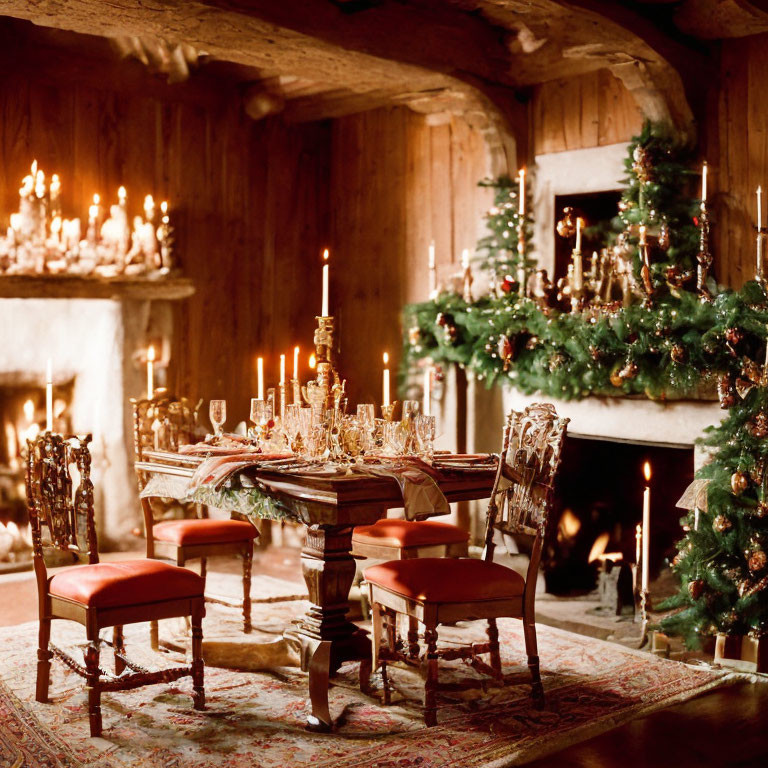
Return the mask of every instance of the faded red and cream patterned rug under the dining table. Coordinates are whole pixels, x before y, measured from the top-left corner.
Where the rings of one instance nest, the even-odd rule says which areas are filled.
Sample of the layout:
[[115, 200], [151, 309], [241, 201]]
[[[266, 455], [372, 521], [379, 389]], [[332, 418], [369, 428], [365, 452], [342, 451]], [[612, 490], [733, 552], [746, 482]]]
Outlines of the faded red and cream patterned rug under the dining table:
[[[239, 632], [239, 612], [210, 606], [208, 638], [243, 643], [280, 637], [306, 603], [262, 604], [257, 631]], [[165, 631], [174, 627], [166, 626]], [[506, 672], [527, 680], [519, 622], [500, 622]], [[439, 725], [423, 726], [421, 682], [396, 668], [394, 703], [384, 707], [363, 695], [357, 664], [344, 665], [331, 689], [332, 733], [305, 730], [307, 688], [292, 667], [271, 672], [206, 668], [208, 709], [192, 709], [189, 678], [102, 697], [104, 736], [88, 736], [82, 680], [54, 663], [51, 704], [34, 701], [37, 625], [0, 630], [0, 768], [500, 768], [557, 752], [632, 718], [724, 685], [728, 677], [665, 661], [600, 640], [539, 626], [547, 706], [535, 709], [527, 685], [488, 687], [485, 692], [443, 694]], [[480, 641], [477, 622], [441, 630], [441, 641]], [[53, 641], [76, 655], [82, 629], [56, 622]], [[173, 654], [149, 650], [148, 628], [126, 629], [129, 655], [145, 666], [178, 663]], [[247, 647], [244, 648], [244, 655]], [[109, 662], [102, 652], [102, 666]], [[455, 662], [441, 666], [441, 680], [474, 676]], [[374, 681], [375, 682], [375, 681]]]

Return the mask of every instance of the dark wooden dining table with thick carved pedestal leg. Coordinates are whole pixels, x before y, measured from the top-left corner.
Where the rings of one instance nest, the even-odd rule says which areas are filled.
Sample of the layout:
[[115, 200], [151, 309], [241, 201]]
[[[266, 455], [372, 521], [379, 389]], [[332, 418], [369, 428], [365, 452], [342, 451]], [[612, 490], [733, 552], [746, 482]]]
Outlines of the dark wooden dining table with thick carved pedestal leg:
[[[458, 457], [457, 457], [458, 458]], [[136, 469], [146, 477], [189, 478], [199, 457], [165, 451], [145, 451]], [[471, 466], [451, 463], [443, 456], [429, 467], [429, 475], [449, 502], [483, 499], [490, 495], [495, 464]], [[308, 672], [311, 711], [308, 726], [332, 726], [328, 689], [341, 664], [359, 660], [361, 678], [370, 669], [371, 643], [367, 631], [347, 618], [349, 592], [355, 577], [352, 530], [383, 518], [387, 510], [403, 506], [403, 495], [393, 477], [364, 474], [315, 476], [300, 471], [258, 469], [251, 474], [259, 488], [288, 510], [288, 519], [306, 526], [301, 567], [310, 607], [286, 636], [298, 643], [301, 668]]]

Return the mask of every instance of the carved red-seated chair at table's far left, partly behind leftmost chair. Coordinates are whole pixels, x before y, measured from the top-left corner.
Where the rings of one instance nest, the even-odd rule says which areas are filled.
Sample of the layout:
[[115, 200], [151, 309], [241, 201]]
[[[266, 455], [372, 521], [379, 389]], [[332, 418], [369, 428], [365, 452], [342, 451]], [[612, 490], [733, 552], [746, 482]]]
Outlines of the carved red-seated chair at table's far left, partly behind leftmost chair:
[[[144, 451], [178, 451], [180, 445], [194, 442], [196, 415], [186, 398], [175, 399], [159, 390], [151, 400], [131, 400], [133, 405], [136, 460], [144, 460]], [[137, 472], [139, 491], [146, 478]], [[168, 559], [184, 566], [190, 560], [200, 560], [200, 575], [206, 578], [207, 561], [216, 555], [237, 555], [243, 558], [243, 631], [251, 631], [251, 571], [253, 540], [259, 532], [247, 520], [211, 520], [208, 508], [192, 505], [192, 519], [155, 519], [152, 499], [141, 499], [147, 557]], [[199, 515], [199, 517], [197, 516]], [[212, 600], [212, 602], [224, 602]], [[229, 603], [226, 603], [229, 605]], [[152, 647], [157, 649], [157, 622], [151, 626]]]

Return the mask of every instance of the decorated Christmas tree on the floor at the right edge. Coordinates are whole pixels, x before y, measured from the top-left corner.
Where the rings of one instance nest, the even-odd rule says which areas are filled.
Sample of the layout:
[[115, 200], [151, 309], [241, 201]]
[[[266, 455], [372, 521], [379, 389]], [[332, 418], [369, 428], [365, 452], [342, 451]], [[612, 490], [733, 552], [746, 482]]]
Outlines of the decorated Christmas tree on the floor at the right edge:
[[730, 412], [703, 441], [713, 455], [696, 474], [673, 562], [681, 590], [659, 606], [679, 609], [661, 626], [691, 648], [715, 632], [768, 634], [768, 305], [757, 283], [716, 305], [719, 323], [705, 343], [730, 358], [719, 387]]

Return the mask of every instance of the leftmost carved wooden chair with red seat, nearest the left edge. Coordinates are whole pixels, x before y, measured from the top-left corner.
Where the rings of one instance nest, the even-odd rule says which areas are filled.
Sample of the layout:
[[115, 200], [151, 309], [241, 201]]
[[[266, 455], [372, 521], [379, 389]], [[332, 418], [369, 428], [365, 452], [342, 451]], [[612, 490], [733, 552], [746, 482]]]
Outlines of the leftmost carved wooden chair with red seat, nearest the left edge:
[[[90, 479], [90, 439], [90, 435], [84, 439], [65, 438], [46, 432], [29, 441], [26, 484], [40, 608], [35, 698], [48, 701], [51, 658], [58, 657], [85, 677], [91, 736], [99, 736], [102, 691], [126, 691], [191, 675], [194, 707], [205, 709], [202, 658], [205, 603], [203, 580], [186, 568], [152, 560], [99, 562]], [[79, 475], [74, 493], [73, 465]], [[49, 576], [47, 564], [73, 567]], [[125, 624], [176, 616], [191, 617], [190, 666], [150, 672], [126, 657]], [[53, 619], [69, 619], [85, 626], [88, 639], [85, 666], [50, 642]], [[114, 627], [114, 675], [99, 668], [99, 632], [106, 627]]]

